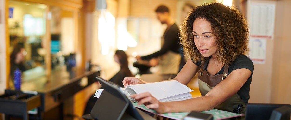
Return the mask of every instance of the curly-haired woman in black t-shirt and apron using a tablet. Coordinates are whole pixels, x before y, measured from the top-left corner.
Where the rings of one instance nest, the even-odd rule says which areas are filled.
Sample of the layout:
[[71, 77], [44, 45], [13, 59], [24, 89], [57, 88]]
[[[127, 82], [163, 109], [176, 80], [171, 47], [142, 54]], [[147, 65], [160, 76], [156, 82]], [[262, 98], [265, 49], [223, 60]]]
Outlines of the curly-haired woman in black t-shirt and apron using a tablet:
[[[253, 74], [253, 62], [246, 56], [248, 28], [245, 18], [221, 3], [196, 7], [181, 27], [181, 44], [187, 51], [186, 65], [173, 79], [187, 85], [198, 72], [201, 97], [160, 102], [150, 93], [131, 97], [158, 113], [205, 111], [212, 108], [245, 112]], [[123, 85], [147, 83], [127, 77]]]

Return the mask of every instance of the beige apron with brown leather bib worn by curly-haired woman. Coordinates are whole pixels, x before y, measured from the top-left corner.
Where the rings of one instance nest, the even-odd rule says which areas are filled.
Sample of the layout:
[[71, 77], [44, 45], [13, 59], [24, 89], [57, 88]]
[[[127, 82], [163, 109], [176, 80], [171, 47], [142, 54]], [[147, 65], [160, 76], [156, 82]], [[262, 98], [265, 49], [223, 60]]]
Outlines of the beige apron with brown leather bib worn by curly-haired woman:
[[[198, 83], [199, 83], [199, 90], [202, 96], [205, 96], [214, 86], [220, 83], [224, 78], [228, 76], [228, 67], [229, 65], [225, 65], [223, 69], [223, 74], [217, 75], [208, 75], [208, 72], [205, 70], [207, 64], [209, 62], [209, 58], [205, 61], [204, 67], [200, 68], [199, 75], [198, 75]], [[242, 113], [245, 114], [246, 106], [242, 98], [239, 97], [237, 93], [233, 96], [228, 98], [226, 101], [214, 107], [214, 109], [224, 110], [228, 112], [233, 112], [233, 109], [236, 109], [239, 104], [242, 104]], [[239, 119], [243, 120], [245, 117], [242, 116]]]

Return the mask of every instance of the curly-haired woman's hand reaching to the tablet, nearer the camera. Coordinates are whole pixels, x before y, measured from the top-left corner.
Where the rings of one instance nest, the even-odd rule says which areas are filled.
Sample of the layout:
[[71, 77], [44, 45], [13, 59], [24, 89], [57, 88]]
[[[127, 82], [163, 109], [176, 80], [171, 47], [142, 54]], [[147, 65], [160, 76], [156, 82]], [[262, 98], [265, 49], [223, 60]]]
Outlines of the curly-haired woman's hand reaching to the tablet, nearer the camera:
[[144, 92], [141, 94], [132, 94], [130, 97], [138, 101], [138, 105], [144, 104], [147, 108], [155, 110], [157, 113], [165, 113], [165, 105], [163, 102], [157, 100], [149, 92]]

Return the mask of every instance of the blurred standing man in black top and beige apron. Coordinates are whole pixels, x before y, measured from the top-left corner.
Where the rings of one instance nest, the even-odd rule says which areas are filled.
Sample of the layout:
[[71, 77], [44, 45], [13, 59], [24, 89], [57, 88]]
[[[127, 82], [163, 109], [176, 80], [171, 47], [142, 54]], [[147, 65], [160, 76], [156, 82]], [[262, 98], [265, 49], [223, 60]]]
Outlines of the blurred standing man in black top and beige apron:
[[166, 24], [167, 28], [162, 36], [161, 50], [146, 56], [137, 56], [138, 60], [149, 60], [150, 66], [157, 67], [156, 74], [178, 74], [181, 55], [179, 53], [179, 28], [171, 19], [168, 7], [160, 5], [155, 10], [157, 19]]

